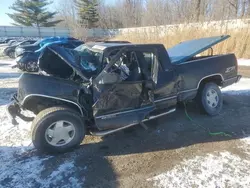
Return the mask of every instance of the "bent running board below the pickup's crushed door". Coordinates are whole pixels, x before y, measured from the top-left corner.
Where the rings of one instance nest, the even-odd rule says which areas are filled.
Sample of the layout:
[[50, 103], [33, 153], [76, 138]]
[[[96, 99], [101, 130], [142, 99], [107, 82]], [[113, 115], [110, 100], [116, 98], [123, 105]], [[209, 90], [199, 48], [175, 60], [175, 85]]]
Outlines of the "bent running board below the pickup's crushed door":
[[[149, 121], [149, 120], [152, 120], [152, 119], [155, 119], [155, 118], [158, 118], [158, 117], [173, 113], [173, 112], [175, 112], [175, 110], [176, 109], [174, 108], [174, 109], [171, 109], [171, 110], [169, 110], [167, 112], [164, 112], [162, 114], [159, 114], [159, 115], [156, 115], [156, 116], [150, 116], [148, 119], [144, 119], [142, 122], [146, 122], [146, 121]], [[134, 123], [134, 124], [126, 125], [124, 127], [120, 127], [118, 129], [112, 129], [112, 130], [106, 130], [106, 131], [95, 131], [95, 132], [90, 131], [90, 134], [94, 135], [94, 136], [106, 136], [108, 134], [112, 134], [114, 132], [121, 131], [123, 129], [129, 128], [129, 127], [132, 127], [132, 126], [138, 125], [138, 124], [140, 124], [140, 123]]]

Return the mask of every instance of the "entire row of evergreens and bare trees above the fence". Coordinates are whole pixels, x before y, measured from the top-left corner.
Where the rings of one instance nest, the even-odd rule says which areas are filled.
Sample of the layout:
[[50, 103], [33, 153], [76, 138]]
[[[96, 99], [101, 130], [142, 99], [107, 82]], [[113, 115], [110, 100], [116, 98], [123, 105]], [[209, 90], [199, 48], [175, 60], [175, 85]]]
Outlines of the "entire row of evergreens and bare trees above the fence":
[[15, 25], [85, 28], [158, 26], [250, 17], [250, 0], [17, 0]]

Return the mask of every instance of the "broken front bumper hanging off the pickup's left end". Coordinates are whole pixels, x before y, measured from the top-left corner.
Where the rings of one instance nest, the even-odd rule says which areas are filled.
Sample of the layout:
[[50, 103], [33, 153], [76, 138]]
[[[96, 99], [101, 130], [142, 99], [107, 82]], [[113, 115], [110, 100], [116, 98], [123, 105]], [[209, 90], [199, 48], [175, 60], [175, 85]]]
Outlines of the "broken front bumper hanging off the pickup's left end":
[[7, 105], [7, 116], [13, 125], [18, 125], [16, 117], [21, 118], [23, 121], [33, 121], [33, 117], [27, 117], [21, 114], [22, 109], [16, 100], [16, 95], [11, 98], [11, 102]]

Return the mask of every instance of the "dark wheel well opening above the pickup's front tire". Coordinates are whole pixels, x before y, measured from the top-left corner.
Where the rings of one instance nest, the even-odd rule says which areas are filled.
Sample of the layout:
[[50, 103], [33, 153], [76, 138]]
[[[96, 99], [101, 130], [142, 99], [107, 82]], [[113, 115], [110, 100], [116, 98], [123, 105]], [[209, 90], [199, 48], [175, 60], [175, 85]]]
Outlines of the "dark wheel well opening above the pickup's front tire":
[[35, 114], [38, 114], [39, 112], [41, 112], [46, 108], [54, 106], [64, 106], [74, 109], [75, 111], [79, 112], [79, 114], [83, 115], [82, 109], [80, 109], [80, 107], [78, 107], [76, 104], [47, 97], [40, 97], [40, 96], [30, 97], [24, 101], [22, 106], [23, 108], [30, 110]]

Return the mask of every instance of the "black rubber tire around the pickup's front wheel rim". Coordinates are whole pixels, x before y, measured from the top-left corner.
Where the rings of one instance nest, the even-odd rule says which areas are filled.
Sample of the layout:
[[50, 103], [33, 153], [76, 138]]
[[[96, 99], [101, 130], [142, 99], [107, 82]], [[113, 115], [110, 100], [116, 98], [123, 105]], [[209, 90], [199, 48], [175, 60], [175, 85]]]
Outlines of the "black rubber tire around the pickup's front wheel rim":
[[[75, 128], [72, 140], [63, 146], [51, 145], [46, 137], [48, 127], [57, 121], [67, 121], [72, 123]], [[37, 150], [48, 153], [67, 152], [79, 146], [85, 137], [84, 121], [80, 114], [66, 107], [52, 107], [41, 111], [32, 123], [32, 142]]]

